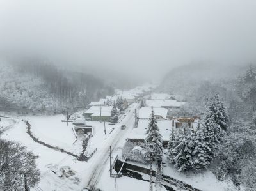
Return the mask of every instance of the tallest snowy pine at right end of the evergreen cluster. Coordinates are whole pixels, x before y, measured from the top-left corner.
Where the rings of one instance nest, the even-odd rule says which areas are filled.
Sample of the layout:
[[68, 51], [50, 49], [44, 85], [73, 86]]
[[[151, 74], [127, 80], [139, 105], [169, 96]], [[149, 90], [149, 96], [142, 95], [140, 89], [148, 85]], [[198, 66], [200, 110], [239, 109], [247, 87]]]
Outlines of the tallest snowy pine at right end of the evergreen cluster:
[[213, 117], [216, 126], [216, 133], [220, 133], [221, 130], [227, 130], [228, 128], [228, 114], [227, 109], [224, 106], [223, 101], [221, 101], [218, 94], [212, 96], [209, 104], [207, 105], [207, 116], [208, 118]]

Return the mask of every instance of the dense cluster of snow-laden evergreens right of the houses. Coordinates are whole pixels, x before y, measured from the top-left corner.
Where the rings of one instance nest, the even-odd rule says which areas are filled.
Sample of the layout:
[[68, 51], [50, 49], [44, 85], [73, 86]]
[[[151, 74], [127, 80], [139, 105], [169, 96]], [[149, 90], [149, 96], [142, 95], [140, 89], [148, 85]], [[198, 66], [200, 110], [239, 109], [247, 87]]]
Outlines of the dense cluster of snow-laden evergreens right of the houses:
[[218, 151], [223, 131], [228, 128], [228, 115], [218, 95], [207, 105], [202, 127], [196, 132], [186, 124], [179, 132], [172, 130], [168, 143], [168, 159], [178, 171], [202, 169], [211, 164]]

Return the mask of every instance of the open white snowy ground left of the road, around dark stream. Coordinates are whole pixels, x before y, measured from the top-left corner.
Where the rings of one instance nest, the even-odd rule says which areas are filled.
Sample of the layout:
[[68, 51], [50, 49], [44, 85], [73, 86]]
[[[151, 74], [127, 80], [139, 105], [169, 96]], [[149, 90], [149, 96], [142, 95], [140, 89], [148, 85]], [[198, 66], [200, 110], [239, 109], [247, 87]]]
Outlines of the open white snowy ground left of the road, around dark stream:
[[[131, 105], [132, 107], [137, 106]], [[97, 152], [88, 162], [79, 162], [75, 157], [36, 143], [26, 133], [26, 123], [21, 119], [16, 119], [15, 123], [13, 122], [12, 124], [12, 128], [1, 134], [1, 138], [19, 141], [28, 150], [38, 155], [37, 164], [41, 172], [41, 180], [38, 183], [38, 187], [42, 190], [81, 190], [86, 186], [88, 178], [92, 175], [92, 168], [97, 166], [98, 163], [102, 163], [100, 158], [102, 153], [108, 152], [108, 145], [118, 139], [119, 132], [123, 131], [120, 130], [120, 125], [127, 124], [133, 119], [133, 116], [134, 113], [131, 110], [120, 123], [116, 125], [106, 123], [106, 135], [104, 134], [103, 122], [87, 121], [88, 124], [90, 123], [95, 127], [93, 137], [88, 142], [88, 150], [92, 151], [97, 148]], [[71, 124], [67, 126], [67, 123], [61, 122], [63, 118], [63, 115], [22, 117], [22, 119], [26, 119], [31, 123], [31, 131], [40, 141], [67, 149], [72, 153], [79, 153], [81, 145], [77, 144], [77, 142], [73, 144], [76, 139], [72, 132]], [[2, 121], [1, 125], [8, 126], [10, 123], [6, 120]], [[115, 129], [113, 130], [113, 128]], [[72, 171], [74, 174], [68, 174], [68, 171]]]

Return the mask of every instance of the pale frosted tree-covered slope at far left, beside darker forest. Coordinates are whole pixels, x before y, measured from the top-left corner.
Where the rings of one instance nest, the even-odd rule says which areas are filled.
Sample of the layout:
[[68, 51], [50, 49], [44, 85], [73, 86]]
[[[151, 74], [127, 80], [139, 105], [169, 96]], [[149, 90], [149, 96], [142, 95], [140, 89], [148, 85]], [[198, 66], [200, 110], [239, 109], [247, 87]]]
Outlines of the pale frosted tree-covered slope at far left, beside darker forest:
[[8, 65], [1, 65], [0, 76], [2, 111], [27, 109], [32, 112], [44, 112], [56, 109], [56, 103], [38, 77], [21, 75]]

